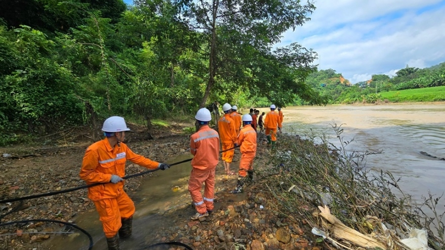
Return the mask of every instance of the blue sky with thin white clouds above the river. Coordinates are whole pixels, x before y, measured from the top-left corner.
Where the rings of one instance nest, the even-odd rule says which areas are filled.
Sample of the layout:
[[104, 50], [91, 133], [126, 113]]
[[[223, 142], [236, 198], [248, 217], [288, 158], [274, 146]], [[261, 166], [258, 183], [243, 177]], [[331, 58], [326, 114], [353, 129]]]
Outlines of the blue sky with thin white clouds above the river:
[[[132, 1], [124, 0], [131, 4]], [[304, 2], [304, 1], [303, 1]], [[311, 20], [283, 34], [352, 83], [445, 61], [445, 0], [316, 0]]]

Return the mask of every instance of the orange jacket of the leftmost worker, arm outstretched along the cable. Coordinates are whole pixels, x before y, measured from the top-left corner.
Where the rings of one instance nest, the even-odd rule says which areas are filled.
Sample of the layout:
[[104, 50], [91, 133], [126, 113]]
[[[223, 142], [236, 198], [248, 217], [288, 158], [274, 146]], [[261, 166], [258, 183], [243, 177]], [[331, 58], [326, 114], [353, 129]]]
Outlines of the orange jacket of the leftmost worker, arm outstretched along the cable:
[[[108, 139], [105, 138], [93, 143], [86, 149], [80, 178], [86, 184], [92, 184], [97, 182], [108, 183], [111, 175], [124, 177], [126, 160], [150, 169], [159, 166], [158, 162], [133, 153], [123, 142], [120, 142], [120, 146], [115, 145], [112, 148]], [[123, 184], [123, 181], [119, 181], [116, 184], [109, 183], [88, 187], [88, 198], [92, 201], [115, 198], [121, 194]]]

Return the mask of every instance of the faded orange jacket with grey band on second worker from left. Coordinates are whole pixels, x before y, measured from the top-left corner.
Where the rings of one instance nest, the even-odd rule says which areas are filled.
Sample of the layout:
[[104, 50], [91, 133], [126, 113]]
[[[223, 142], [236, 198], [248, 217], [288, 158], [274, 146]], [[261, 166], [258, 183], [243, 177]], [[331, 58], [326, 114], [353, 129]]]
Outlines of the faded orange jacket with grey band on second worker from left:
[[200, 170], [215, 168], [219, 161], [219, 135], [208, 125], [199, 128], [190, 137], [190, 153], [194, 155], [192, 166]]

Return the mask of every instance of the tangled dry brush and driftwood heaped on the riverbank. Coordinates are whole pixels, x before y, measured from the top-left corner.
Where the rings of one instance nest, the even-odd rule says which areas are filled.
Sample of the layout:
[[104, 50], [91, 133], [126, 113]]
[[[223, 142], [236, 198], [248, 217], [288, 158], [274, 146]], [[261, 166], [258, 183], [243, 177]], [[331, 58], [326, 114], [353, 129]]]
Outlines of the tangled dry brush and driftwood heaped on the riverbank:
[[410, 249], [401, 239], [412, 229], [424, 228], [428, 246], [445, 249], [445, 217], [436, 212], [441, 196], [429, 194], [423, 204], [414, 204], [400, 190], [400, 178], [366, 168], [366, 157], [381, 152], [347, 151], [351, 141], [343, 140], [341, 125], [332, 127], [341, 146], [324, 138], [320, 144], [280, 138], [279, 148], [286, 151], [278, 150], [270, 160], [276, 167], [262, 173], [262, 181], [279, 201], [277, 209], [327, 232], [330, 240], [324, 242], [330, 248]]

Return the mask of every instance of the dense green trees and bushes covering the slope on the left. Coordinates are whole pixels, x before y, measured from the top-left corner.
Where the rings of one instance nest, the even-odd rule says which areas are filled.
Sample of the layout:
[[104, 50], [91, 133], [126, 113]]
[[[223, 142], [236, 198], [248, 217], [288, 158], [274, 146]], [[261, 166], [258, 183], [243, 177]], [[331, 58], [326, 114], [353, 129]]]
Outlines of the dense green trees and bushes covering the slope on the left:
[[[110, 115], [193, 114], [323, 104], [305, 83], [315, 52], [281, 34], [308, 20], [299, 1], [13, 0], [0, 16], [0, 144]], [[297, 101], [295, 101], [297, 100]]]

